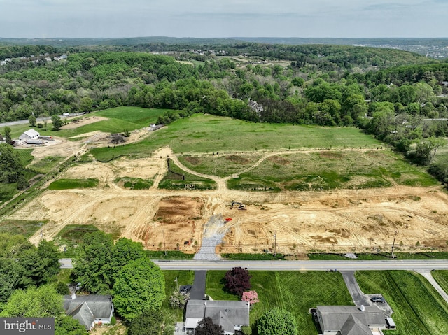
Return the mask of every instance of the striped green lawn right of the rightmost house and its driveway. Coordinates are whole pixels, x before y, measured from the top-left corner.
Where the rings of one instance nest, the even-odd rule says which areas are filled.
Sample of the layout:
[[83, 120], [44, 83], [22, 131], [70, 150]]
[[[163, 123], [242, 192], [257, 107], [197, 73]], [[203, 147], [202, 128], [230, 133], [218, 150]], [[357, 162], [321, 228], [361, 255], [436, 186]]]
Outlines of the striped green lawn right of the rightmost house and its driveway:
[[448, 334], [448, 304], [425, 278], [410, 271], [358, 271], [365, 294], [381, 293], [393, 309], [397, 325], [384, 334]]

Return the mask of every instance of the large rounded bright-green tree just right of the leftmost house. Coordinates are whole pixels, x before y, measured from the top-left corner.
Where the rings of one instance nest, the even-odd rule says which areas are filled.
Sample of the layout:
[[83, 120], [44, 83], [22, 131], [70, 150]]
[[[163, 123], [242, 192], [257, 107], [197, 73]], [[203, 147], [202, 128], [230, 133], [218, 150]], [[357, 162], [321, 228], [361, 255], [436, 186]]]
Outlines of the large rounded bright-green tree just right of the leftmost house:
[[148, 309], [159, 310], [165, 299], [165, 277], [148, 258], [123, 266], [113, 285], [116, 311], [127, 321]]

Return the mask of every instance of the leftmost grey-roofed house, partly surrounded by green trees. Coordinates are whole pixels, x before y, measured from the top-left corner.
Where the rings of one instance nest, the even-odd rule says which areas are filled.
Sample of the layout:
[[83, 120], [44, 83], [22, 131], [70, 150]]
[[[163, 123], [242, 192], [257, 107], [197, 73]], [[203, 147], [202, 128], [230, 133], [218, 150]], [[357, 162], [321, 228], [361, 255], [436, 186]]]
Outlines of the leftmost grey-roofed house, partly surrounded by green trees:
[[113, 314], [112, 297], [110, 295], [80, 295], [76, 294], [64, 296], [64, 310], [66, 315], [71, 315], [73, 319], [90, 331], [94, 325], [111, 323]]

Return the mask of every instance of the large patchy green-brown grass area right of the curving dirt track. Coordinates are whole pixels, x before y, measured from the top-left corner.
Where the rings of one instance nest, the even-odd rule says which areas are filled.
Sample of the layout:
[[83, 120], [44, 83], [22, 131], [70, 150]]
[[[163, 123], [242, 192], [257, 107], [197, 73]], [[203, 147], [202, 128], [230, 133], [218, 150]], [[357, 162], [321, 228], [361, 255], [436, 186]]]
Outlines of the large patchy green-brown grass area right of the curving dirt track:
[[399, 185], [437, 185], [428, 173], [390, 151], [323, 150], [268, 157], [256, 169], [229, 180], [228, 187], [246, 191], [363, 189], [390, 187], [391, 180]]

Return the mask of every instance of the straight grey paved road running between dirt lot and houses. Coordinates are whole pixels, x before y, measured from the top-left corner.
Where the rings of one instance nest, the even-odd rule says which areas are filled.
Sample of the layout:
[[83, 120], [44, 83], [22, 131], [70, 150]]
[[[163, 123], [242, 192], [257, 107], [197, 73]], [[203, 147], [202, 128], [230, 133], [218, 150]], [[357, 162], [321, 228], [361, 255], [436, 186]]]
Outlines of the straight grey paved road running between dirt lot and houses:
[[[61, 269], [72, 269], [71, 259], [59, 259]], [[264, 271], [369, 271], [369, 270], [448, 270], [447, 259], [390, 260], [390, 261], [202, 261], [202, 260], [155, 260], [162, 270], [230, 270], [241, 266], [248, 270]]]

